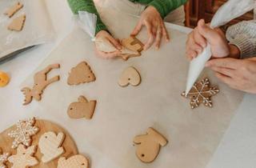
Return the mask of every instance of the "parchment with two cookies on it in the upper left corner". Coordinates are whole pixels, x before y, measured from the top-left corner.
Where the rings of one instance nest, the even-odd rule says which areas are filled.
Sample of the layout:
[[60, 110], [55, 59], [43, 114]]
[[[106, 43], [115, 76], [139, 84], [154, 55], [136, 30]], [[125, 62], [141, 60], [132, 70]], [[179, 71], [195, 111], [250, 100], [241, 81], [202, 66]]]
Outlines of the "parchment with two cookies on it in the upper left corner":
[[[23, 8], [9, 18], [4, 12], [17, 2], [21, 2]], [[8, 30], [10, 22], [21, 14], [26, 14], [23, 30]], [[53, 38], [54, 29], [44, 0], [0, 0], [0, 58], [16, 50], [50, 42]]]

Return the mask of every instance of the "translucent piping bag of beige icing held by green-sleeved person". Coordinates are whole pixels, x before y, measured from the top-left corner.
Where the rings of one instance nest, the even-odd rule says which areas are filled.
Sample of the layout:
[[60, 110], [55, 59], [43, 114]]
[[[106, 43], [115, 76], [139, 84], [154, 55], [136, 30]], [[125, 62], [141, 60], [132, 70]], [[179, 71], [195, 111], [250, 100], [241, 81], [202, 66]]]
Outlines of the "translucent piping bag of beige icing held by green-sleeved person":
[[[97, 15], [91, 14], [86, 11], [78, 11], [78, 25], [82, 30], [86, 31], [90, 35], [90, 38], [95, 42], [95, 46], [98, 50], [109, 53], [117, 51], [113, 44], [106, 38], [95, 37], [96, 24], [97, 24]], [[122, 46], [121, 54], [138, 54], [133, 50], [129, 50], [126, 47]]]

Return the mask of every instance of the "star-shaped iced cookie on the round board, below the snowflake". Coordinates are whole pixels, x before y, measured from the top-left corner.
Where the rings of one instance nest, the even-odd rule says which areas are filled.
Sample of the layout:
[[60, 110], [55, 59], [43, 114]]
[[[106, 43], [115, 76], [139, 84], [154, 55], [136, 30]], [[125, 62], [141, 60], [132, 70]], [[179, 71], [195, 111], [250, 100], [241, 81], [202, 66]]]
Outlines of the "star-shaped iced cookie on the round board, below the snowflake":
[[38, 165], [38, 160], [33, 156], [36, 150], [36, 146], [30, 146], [26, 149], [25, 146], [19, 145], [17, 154], [10, 156], [8, 161], [13, 163], [12, 168], [36, 166]]

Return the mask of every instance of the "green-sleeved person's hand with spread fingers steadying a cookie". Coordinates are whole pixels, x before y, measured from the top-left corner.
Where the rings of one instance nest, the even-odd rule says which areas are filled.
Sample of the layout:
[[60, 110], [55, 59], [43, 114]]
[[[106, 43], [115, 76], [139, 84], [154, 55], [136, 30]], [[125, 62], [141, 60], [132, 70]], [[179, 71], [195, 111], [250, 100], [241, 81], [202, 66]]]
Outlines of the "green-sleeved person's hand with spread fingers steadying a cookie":
[[142, 30], [142, 26], [146, 26], [146, 30], [149, 36], [148, 41], [144, 46], [144, 50], [149, 49], [150, 46], [154, 44], [154, 42], [156, 49], [159, 49], [162, 36], [166, 38], [166, 42], [170, 41], [169, 34], [166, 30], [166, 26], [161, 18], [161, 15], [153, 6], [148, 6], [146, 10], [143, 11], [137, 26], [135, 26], [133, 32], [130, 35], [136, 36], [140, 30]]

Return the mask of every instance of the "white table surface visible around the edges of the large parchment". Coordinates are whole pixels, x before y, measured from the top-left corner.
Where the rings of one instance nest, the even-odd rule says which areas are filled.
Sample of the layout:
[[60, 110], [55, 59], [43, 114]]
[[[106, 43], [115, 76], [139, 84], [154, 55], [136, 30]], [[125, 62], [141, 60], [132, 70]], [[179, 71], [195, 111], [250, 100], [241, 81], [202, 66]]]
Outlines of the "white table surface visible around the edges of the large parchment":
[[[22, 108], [19, 85], [72, 30], [72, 14], [66, 1], [46, 0], [46, 2], [56, 30], [56, 40], [36, 46], [0, 65], [0, 70], [6, 71], [11, 76], [10, 84], [0, 88], [0, 131], [13, 125], [18, 119], [30, 117], [30, 114]], [[190, 32], [190, 29], [181, 26], [172, 24], [168, 26]], [[36, 107], [32, 108], [36, 109]], [[246, 94], [236, 113], [207, 168], [256, 167], [256, 95]], [[104, 166], [102, 164], [102, 167], [105, 166], [106, 164]]]

